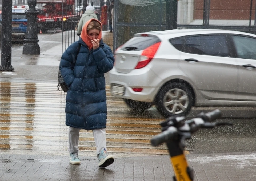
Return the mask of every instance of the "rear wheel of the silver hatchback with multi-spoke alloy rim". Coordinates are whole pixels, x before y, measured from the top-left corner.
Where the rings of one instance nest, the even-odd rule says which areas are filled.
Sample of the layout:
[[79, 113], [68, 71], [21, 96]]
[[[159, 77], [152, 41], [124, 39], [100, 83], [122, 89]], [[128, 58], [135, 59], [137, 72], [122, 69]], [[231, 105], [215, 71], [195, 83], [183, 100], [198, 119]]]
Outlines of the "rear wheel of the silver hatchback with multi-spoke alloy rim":
[[189, 87], [174, 82], [160, 89], [155, 102], [157, 110], [166, 118], [185, 116], [193, 105], [193, 96]]

